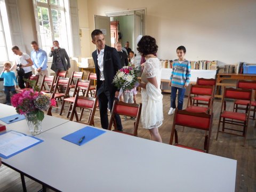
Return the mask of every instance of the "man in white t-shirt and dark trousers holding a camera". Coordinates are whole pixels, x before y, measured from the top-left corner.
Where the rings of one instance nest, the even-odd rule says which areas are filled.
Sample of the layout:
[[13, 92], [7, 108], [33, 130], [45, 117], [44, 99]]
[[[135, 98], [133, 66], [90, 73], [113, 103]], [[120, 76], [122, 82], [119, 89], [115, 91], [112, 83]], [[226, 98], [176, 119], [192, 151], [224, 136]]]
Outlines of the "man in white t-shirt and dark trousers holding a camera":
[[12, 52], [15, 54], [15, 65], [12, 66], [11, 70], [17, 69], [19, 87], [24, 89], [25, 81], [23, 78], [28, 79], [32, 75], [30, 66], [33, 66], [33, 61], [27, 53], [22, 53], [17, 45], [12, 47]]

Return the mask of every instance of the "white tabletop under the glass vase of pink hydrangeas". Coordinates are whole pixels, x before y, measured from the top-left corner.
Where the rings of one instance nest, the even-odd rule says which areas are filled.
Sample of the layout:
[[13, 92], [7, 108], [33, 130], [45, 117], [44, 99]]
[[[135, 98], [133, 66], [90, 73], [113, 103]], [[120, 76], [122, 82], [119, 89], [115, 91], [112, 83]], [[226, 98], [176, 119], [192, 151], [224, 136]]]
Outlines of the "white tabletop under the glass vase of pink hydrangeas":
[[[1, 109], [0, 118], [17, 114], [13, 106], [8, 106], [0, 103], [0, 109]], [[44, 115], [44, 119], [42, 121], [42, 126], [43, 126], [42, 132], [52, 129], [55, 126], [61, 125], [68, 121], [69, 121], [68, 119], [62, 119], [58, 117]], [[18, 131], [18, 132], [30, 135], [29, 128], [25, 119], [18, 122], [10, 123], [10, 124], [6, 124], [0, 120], [0, 123], [6, 126], [6, 131], [13, 130], [13, 131]]]

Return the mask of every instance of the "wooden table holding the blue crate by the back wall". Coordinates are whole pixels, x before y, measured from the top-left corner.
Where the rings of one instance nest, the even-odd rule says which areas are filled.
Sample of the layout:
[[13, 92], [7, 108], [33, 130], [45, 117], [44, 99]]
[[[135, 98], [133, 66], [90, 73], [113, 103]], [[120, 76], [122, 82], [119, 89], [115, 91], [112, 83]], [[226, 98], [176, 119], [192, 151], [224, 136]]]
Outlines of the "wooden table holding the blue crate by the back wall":
[[222, 81], [225, 79], [256, 81], [256, 74], [226, 74], [226, 73], [217, 74], [217, 79], [216, 79], [217, 94], [215, 94], [215, 97], [217, 98], [222, 97], [222, 95], [220, 94], [221, 87], [236, 86], [236, 83], [222, 83]]

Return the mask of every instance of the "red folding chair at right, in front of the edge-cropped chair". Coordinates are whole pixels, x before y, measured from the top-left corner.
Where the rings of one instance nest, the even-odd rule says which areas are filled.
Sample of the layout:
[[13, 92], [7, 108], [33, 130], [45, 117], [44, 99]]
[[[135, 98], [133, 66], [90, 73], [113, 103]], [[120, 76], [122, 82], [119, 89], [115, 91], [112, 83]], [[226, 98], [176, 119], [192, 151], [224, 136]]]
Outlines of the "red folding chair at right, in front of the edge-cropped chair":
[[[245, 113], [238, 113], [235, 111], [228, 110], [231, 107], [227, 106], [227, 104], [230, 104], [230, 105], [233, 104], [233, 102], [230, 101], [230, 99], [232, 99], [233, 102], [234, 100], [237, 100], [237, 99], [248, 101], [249, 103], [246, 105]], [[216, 140], [218, 140], [219, 132], [228, 133], [228, 134], [244, 137], [244, 145], [245, 145], [247, 126], [248, 126], [248, 121], [250, 116], [251, 99], [252, 99], [252, 90], [242, 90], [242, 89], [225, 87], [222, 95], [221, 111], [220, 111], [220, 118], [219, 118]], [[220, 123], [222, 123], [222, 130], [220, 130]], [[241, 129], [235, 129], [233, 127], [225, 127], [225, 124], [242, 126], [243, 129], [241, 130]], [[225, 130], [229, 130], [229, 131], [227, 132]], [[242, 132], [242, 134], [237, 134], [234, 132]]]

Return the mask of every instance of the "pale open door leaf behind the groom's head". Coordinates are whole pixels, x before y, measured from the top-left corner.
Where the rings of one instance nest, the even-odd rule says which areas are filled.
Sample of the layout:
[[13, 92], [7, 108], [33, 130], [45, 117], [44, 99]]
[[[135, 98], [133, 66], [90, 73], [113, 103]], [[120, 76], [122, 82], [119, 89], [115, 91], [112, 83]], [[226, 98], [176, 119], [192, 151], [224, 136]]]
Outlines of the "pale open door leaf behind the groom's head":
[[94, 15], [94, 27], [102, 31], [106, 39], [106, 45], [111, 46], [110, 17]]

